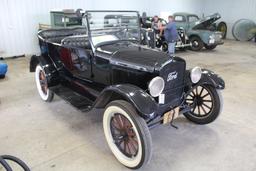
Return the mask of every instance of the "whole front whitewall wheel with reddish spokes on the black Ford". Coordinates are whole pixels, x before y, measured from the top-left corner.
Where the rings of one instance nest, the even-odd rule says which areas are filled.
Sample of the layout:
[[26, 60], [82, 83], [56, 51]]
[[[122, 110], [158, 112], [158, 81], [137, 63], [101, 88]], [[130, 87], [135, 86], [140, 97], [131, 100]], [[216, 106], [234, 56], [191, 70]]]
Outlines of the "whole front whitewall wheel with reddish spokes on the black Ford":
[[116, 100], [108, 104], [103, 128], [110, 150], [124, 166], [138, 169], [150, 161], [152, 139], [148, 126], [130, 103]]

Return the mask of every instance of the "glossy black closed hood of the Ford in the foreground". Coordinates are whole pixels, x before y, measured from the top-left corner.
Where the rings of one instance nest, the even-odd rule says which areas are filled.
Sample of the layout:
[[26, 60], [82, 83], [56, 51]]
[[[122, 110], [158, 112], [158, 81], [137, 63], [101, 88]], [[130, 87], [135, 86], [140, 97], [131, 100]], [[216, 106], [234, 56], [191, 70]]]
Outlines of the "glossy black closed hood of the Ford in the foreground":
[[168, 54], [135, 43], [116, 43], [97, 49], [111, 56], [110, 63], [141, 71], [154, 72], [170, 60]]

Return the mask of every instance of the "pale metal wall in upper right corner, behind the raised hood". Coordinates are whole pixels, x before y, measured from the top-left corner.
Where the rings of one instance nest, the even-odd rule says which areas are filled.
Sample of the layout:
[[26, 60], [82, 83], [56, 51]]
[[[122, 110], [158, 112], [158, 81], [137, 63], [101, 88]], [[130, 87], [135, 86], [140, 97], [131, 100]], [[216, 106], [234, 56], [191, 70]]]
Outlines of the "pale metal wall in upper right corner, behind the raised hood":
[[203, 3], [203, 13], [209, 15], [219, 12], [221, 20], [227, 22], [227, 38], [233, 39], [232, 26], [242, 18], [251, 19], [256, 22], [256, 1], [255, 0], [206, 0]]

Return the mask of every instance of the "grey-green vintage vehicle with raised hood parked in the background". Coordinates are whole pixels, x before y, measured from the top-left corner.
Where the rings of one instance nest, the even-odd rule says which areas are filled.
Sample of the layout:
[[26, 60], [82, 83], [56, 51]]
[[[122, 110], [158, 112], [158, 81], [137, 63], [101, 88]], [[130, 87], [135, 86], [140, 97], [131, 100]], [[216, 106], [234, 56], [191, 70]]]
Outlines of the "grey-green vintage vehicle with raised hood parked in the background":
[[192, 50], [199, 51], [203, 47], [212, 50], [224, 43], [222, 33], [216, 31], [213, 26], [215, 21], [221, 18], [220, 14], [215, 13], [202, 19], [195, 14], [184, 12], [174, 13], [173, 16], [177, 27], [186, 30]]

